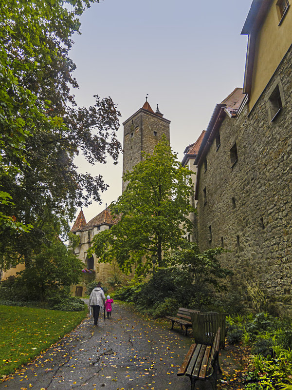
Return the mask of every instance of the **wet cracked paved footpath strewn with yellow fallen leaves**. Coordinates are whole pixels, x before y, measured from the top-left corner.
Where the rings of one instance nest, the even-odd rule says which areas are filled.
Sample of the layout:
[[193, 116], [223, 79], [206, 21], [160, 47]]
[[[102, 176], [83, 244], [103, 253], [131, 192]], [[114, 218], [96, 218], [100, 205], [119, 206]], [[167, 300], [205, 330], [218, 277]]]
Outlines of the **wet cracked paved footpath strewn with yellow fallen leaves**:
[[[103, 312], [101, 313], [103, 315]], [[0, 390], [185, 390], [177, 370], [192, 339], [113, 305], [98, 326], [86, 318], [33, 363], [0, 383]]]

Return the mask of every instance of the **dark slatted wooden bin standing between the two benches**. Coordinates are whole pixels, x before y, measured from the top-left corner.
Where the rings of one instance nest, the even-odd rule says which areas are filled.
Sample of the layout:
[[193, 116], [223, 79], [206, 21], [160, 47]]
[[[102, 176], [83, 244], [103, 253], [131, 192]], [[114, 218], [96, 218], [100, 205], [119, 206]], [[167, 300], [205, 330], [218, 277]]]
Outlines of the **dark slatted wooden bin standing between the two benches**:
[[220, 328], [219, 347], [225, 347], [226, 314], [216, 312], [191, 313], [191, 321], [196, 343], [212, 345]]

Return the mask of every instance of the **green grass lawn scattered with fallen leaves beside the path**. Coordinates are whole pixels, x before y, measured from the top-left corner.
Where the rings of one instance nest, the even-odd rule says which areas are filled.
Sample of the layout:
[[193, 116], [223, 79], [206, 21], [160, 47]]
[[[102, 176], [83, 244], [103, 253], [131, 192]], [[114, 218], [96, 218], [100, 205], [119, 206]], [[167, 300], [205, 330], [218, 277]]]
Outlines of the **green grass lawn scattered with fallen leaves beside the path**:
[[72, 331], [86, 313], [0, 305], [0, 376], [33, 360]]

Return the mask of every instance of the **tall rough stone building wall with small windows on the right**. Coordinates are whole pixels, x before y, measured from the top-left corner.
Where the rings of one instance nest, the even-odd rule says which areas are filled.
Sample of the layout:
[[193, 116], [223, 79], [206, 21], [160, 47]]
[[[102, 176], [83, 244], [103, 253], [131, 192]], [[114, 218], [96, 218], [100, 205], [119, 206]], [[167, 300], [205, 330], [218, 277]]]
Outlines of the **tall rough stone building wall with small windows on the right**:
[[[271, 122], [276, 85], [283, 109]], [[201, 250], [224, 246], [224, 266], [235, 277], [258, 281], [278, 302], [292, 304], [292, 50], [253, 110], [228, 116], [200, 167], [198, 237]], [[237, 145], [233, 165], [230, 150]], [[205, 200], [204, 202], [204, 190]]]

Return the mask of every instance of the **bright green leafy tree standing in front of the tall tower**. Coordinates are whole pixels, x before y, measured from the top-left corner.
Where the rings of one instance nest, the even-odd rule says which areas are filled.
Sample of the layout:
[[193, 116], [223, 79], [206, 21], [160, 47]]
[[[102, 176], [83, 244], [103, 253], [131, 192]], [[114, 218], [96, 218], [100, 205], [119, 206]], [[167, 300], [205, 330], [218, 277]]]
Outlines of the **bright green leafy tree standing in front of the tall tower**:
[[100, 261], [116, 258], [123, 271], [130, 271], [133, 264], [138, 269], [149, 268], [152, 255], [157, 265], [163, 266], [163, 253], [179, 247], [192, 229], [187, 217], [193, 211], [190, 174], [163, 137], [153, 155], [145, 154], [124, 176], [128, 186], [110, 205], [111, 213], [121, 219], [110, 230], [95, 235], [91, 252]]

